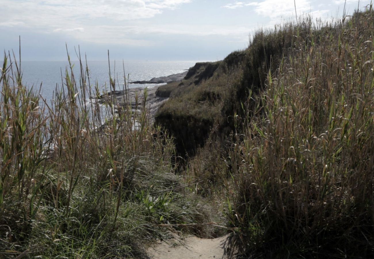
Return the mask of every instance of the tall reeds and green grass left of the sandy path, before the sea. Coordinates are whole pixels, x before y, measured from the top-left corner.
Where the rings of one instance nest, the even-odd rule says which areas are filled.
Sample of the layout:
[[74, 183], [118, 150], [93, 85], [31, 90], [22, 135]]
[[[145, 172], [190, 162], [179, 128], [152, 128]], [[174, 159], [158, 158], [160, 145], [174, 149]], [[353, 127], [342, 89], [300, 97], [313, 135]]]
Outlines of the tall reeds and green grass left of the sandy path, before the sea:
[[[22, 83], [21, 60], [4, 54], [1, 256], [141, 258], [146, 243], [170, 230], [208, 236], [205, 229], [154, 226], [202, 223], [209, 216], [175, 174], [172, 139], [149, 122], [147, 89], [135, 109], [120, 106], [114, 95], [104, 105], [88, 104], [100, 86], [78, 58], [79, 75], [68, 55], [63, 85], [49, 103]], [[108, 87], [119, 89], [110, 72]]]

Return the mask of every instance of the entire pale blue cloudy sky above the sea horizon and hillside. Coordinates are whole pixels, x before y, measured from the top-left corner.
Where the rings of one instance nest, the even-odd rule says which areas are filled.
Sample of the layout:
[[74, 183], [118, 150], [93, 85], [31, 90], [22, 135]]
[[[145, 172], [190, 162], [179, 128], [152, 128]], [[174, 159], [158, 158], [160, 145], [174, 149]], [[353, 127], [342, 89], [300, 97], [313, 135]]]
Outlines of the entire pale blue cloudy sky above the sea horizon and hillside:
[[[370, 0], [347, 0], [352, 14]], [[0, 0], [0, 50], [22, 60], [222, 60], [259, 28], [341, 17], [344, 0]]]

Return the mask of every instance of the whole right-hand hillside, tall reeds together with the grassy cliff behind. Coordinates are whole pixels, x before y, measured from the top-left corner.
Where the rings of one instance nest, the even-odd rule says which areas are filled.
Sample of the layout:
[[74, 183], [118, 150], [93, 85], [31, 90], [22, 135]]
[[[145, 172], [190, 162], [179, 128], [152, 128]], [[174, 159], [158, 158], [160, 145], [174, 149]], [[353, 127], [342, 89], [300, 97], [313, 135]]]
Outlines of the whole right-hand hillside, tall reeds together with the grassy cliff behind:
[[159, 110], [245, 257], [374, 256], [373, 33], [371, 5], [259, 30]]

